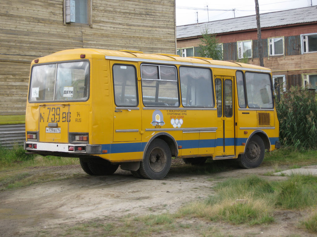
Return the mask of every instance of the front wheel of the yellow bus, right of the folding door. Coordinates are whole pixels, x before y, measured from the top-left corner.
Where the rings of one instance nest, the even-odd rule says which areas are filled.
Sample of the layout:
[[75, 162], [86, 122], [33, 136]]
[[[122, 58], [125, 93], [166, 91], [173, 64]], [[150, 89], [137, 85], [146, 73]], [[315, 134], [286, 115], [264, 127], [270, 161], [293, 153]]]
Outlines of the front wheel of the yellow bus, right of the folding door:
[[265, 146], [261, 137], [253, 135], [247, 144], [245, 153], [238, 155], [237, 162], [240, 167], [251, 169], [259, 167], [264, 159]]

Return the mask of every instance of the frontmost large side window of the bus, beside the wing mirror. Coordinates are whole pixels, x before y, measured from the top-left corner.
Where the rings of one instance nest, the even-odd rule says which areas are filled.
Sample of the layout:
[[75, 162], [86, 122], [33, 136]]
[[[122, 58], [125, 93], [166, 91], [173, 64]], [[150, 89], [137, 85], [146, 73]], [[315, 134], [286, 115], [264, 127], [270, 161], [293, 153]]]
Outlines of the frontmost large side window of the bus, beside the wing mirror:
[[245, 73], [249, 108], [273, 108], [271, 77], [265, 73]]

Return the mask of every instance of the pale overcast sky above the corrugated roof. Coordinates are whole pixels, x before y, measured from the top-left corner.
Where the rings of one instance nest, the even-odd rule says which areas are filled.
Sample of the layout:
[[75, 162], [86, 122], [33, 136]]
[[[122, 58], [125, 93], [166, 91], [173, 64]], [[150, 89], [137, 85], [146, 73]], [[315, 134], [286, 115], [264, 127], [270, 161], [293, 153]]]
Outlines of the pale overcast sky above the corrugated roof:
[[[260, 14], [317, 5], [317, 0], [258, 0], [258, 2]], [[176, 25], [197, 24], [197, 12], [198, 23], [207, 22], [208, 18], [209, 21], [217, 21], [255, 15], [255, 0], [176, 0]]]

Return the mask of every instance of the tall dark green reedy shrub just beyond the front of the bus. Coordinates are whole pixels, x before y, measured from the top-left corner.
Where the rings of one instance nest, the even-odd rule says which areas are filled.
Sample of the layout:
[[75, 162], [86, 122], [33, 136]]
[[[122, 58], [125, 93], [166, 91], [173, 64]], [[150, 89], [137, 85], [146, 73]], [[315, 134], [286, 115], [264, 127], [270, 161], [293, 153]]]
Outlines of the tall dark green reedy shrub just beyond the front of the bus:
[[276, 104], [281, 145], [317, 149], [317, 101], [314, 92], [292, 87]]

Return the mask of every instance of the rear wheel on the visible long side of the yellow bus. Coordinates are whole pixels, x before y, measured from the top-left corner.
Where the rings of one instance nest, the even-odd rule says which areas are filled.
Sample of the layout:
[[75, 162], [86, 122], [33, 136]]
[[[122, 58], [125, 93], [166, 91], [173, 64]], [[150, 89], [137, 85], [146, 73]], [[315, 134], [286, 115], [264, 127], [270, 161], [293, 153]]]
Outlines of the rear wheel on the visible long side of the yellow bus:
[[154, 139], [140, 162], [140, 174], [145, 179], [163, 179], [171, 168], [171, 150], [162, 139]]

